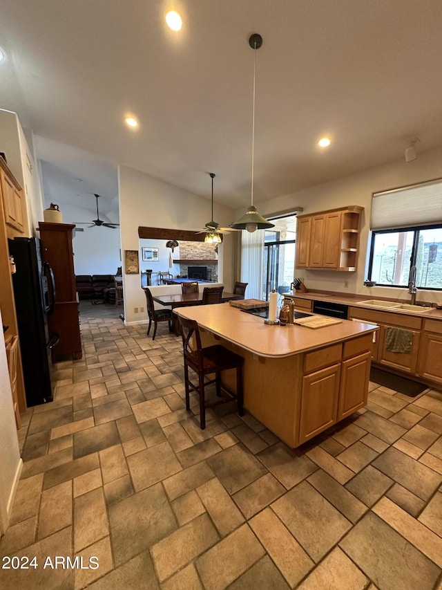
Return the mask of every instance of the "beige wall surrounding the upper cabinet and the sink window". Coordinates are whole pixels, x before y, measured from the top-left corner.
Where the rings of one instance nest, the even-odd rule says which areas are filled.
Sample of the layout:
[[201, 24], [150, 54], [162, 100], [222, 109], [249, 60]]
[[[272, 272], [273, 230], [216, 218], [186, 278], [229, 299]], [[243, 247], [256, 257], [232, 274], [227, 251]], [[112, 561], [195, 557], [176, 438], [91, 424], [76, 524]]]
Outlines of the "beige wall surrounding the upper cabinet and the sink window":
[[[320, 289], [357, 293], [367, 299], [372, 296], [409, 299], [410, 295], [405, 288], [365, 287], [363, 284], [367, 277], [372, 193], [441, 178], [441, 176], [442, 148], [437, 148], [419, 154], [418, 158], [410, 163], [405, 163], [402, 158], [396, 162], [358, 172], [358, 174], [338, 178], [336, 181], [259, 203], [258, 211], [267, 217], [275, 212], [289, 210], [296, 206], [304, 208], [302, 214], [308, 214], [345, 207], [345, 205], [361, 205], [365, 210], [363, 212], [358, 270], [354, 273], [338, 273], [332, 270], [298, 269], [295, 270], [295, 275], [304, 277], [305, 285], [311, 291]], [[240, 216], [242, 212], [242, 210], [238, 210], [236, 216]], [[346, 281], [348, 288], [344, 286]], [[420, 299], [442, 302], [442, 291], [418, 291], [417, 300]]]

